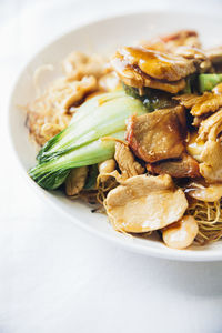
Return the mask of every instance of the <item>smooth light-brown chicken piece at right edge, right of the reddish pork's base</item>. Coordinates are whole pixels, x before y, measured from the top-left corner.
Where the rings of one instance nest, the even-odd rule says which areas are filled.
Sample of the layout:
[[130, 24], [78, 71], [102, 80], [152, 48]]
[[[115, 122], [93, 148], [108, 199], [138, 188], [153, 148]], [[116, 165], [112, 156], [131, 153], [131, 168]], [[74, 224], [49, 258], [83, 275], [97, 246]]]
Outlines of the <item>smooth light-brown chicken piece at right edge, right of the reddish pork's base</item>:
[[201, 160], [201, 175], [210, 183], [222, 182], [222, 143], [206, 141]]

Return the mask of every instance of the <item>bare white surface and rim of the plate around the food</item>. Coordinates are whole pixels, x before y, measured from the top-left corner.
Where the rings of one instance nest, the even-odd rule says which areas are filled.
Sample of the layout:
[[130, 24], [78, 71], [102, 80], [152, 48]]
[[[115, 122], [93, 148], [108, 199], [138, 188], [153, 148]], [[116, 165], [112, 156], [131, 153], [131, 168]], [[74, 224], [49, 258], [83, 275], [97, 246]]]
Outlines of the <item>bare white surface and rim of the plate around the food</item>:
[[[75, 29], [46, 47], [38, 53], [20, 73], [10, 98], [9, 128], [12, 144], [19, 162], [27, 173], [36, 163], [36, 149], [29, 141], [24, 127], [26, 115], [18, 104], [26, 104], [34, 98], [33, 72], [41, 64], [52, 63], [56, 67], [53, 75], [61, 72], [61, 60], [73, 50], [87, 52], [112, 53], [118, 46], [130, 44], [138, 40], [149, 39], [157, 34], [169, 33], [178, 29], [196, 29], [206, 47], [222, 43], [221, 18], [184, 13], [134, 13], [98, 21]], [[52, 75], [48, 75], [48, 81]], [[42, 84], [46, 82], [42, 82]], [[204, 248], [193, 248], [179, 251], [167, 248], [155, 238], [148, 240], [120, 234], [111, 228], [102, 214], [92, 214], [83, 202], [70, 201], [60, 192], [47, 192], [39, 188], [29, 176], [27, 180], [42, 200], [48, 200], [54, 208], [63, 212], [77, 225], [93, 232], [124, 248], [148, 255], [183, 261], [216, 261], [222, 260], [222, 242]]]

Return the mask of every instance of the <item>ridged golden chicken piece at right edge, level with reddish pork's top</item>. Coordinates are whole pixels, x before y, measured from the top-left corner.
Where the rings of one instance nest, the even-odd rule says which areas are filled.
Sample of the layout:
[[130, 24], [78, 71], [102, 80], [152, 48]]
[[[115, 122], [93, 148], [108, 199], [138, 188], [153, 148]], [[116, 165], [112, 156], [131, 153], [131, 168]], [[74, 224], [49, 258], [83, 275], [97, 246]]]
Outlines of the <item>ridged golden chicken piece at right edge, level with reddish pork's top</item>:
[[222, 131], [222, 109], [203, 120], [199, 128], [198, 141], [216, 141]]

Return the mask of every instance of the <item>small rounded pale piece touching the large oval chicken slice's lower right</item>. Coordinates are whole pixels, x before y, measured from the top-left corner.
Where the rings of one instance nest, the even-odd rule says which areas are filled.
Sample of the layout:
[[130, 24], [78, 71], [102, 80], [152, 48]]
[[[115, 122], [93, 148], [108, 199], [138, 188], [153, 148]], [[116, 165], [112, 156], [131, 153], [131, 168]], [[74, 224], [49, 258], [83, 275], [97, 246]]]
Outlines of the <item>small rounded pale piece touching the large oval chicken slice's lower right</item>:
[[182, 250], [193, 243], [198, 231], [195, 219], [191, 215], [184, 215], [178, 222], [165, 226], [162, 236], [169, 248]]

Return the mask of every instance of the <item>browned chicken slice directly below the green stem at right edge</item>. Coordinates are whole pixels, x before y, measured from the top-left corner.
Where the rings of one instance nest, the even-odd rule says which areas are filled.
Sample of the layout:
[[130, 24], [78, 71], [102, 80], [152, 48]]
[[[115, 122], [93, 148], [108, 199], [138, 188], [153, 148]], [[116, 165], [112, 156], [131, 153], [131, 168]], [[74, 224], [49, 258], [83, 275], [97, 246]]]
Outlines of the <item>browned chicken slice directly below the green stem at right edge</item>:
[[222, 107], [222, 83], [218, 84], [212, 92], [204, 92], [202, 95], [181, 94], [174, 99], [179, 101], [181, 105], [191, 109], [192, 115], [199, 117], [214, 112]]

